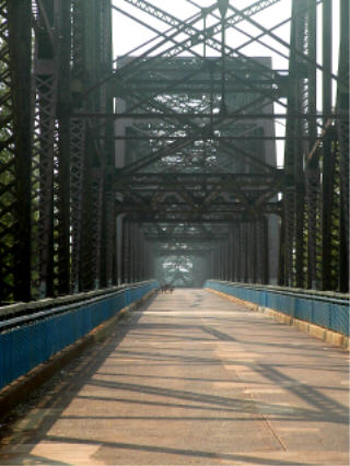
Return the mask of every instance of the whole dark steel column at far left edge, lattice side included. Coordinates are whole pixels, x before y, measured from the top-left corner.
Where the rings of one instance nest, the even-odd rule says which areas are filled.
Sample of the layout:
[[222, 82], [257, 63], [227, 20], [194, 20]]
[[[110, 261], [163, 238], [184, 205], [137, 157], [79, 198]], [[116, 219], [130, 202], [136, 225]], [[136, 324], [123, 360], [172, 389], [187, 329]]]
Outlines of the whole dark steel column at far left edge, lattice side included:
[[0, 302], [31, 299], [31, 2], [0, 1]]

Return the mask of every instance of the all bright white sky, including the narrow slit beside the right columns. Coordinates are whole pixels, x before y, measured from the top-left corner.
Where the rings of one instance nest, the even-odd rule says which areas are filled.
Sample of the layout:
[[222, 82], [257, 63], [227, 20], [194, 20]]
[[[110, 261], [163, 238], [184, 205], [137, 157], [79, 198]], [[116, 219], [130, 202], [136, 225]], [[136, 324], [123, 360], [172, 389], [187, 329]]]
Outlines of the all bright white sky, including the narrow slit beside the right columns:
[[[337, 74], [338, 67], [338, 46], [339, 46], [339, 1], [332, 0], [334, 4], [334, 31], [332, 31], [332, 46], [334, 46], [334, 65], [332, 72]], [[113, 4], [120, 9], [124, 13], [129, 13], [132, 16], [138, 18], [144, 25], [137, 23], [135, 20], [131, 20], [126, 14], [120, 11], [114, 10], [113, 13], [113, 33], [114, 33], [114, 55], [115, 57], [120, 57], [122, 55], [132, 53], [132, 55], [141, 55], [147, 50], [150, 50], [153, 46], [159, 44], [162, 38], [158, 38], [154, 42], [151, 42], [147, 46], [140, 47], [148, 40], [156, 37], [158, 32], [165, 32], [170, 28], [168, 25], [164, 24], [162, 21], [140, 11], [138, 8], [130, 4], [132, 0], [113, 0]], [[232, 7], [237, 8], [240, 10], [244, 10], [244, 8], [255, 3], [256, 0], [230, 0]], [[165, 10], [167, 13], [173, 16], [185, 21], [191, 18], [194, 14], [199, 12], [198, 7], [207, 8], [212, 5], [214, 2], [212, 0], [149, 0], [149, 3]], [[195, 3], [195, 4], [191, 4]], [[277, 25], [284, 20], [288, 20], [291, 15], [291, 3], [292, 0], [280, 0], [272, 7], [266, 9], [262, 12], [255, 14], [253, 20], [255, 20], [259, 25], [265, 27], [271, 27], [272, 25]], [[306, 0], [305, 0], [306, 3]], [[322, 11], [322, 4], [317, 7], [318, 11]], [[214, 14], [219, 18], [219, 10], [214, 11]], [[229, 12], [229, 14], [233, 14], [233, 12]], [[317, 24], [317, 42], [318, 42], [318, 54], [317, 54], [317, 62], [322, 63], [322, 14], [318, 14], [318, 24]], [[219, 20], [213, 16], [208, 16], [207, 19], [207, 27], [210, 27], [213, 23], [217, 23]], [[153, 28], [151, 31], [149, 27]], [[200, 20], [194, 24], [194, 26], [198, 30], [203, 28], [203, 21]], [[237, 27], [244, 30], [245, 33], [250, 34], [252, 36], [257, 36], [261, 33], [261, 31], [247, 22], [242, 22], [237, 24]], [[273, 31], [281, 40], [289, 43], [290, 37], [290, 23], [277, 27]], [[179, 34], [176, 36], [176, 40], [182, 40], [188, 37], [185, 34]], [[221, 36], [218, 37], [221, 39]], [[269, 56], [272, 58], [272, 68], [278, 70], [288, 70], [288, 55], [289, 49], [281, 45], [278, 40], [270, 38], [266, 35], [261, 37], [261, 40], [267, 45], [276, 48], [278, 51], [282, 53], [284, 57], [279, 56], [277, 53], [271, 51], [266, 46], [261, 44], [257, 44], [256, 42], [253, 44], [245, 45], [246, 42], [249, 40], [249, 37], [245, 36], [242, 32], [237, 32], [233, 28], [226, 31], [226, 44], [231, 47], [241, 47], [240, 51], [247, 56]], [[170, 47], [170, 44], [165, 44], [165, 49]], [[203, 46], [199, 45], [192, 48], [196, 53], [202, 55]], [[158, 55], [160, 51], [164, 50], [162, 47], [154, 48], [154, 50], [150, 55]], [[184, 53], [184, 55], [190, 55], [189, 53]], [[208, 56], [215, 56], [218, 53], [215, 50], [207, 48]], [[318, 72], [318, 78], [320, 77], [320, 72]], [[317, 108], [320, 109], [322, 102], [322, 82], [318, 79], [317, 83]], [[278, 113], [282, 113], [282, 107], [279, 105], [275, 106], [275, 110]], [[283, 136], [284, 127], [283, 121], [278, 121], [276, 131], [278, 136]], [[283, 148], [284, 143], [282, 141], [277, 141], [277, 153], [278, 153], [278, 163], [282, 165], [283, 161]]]

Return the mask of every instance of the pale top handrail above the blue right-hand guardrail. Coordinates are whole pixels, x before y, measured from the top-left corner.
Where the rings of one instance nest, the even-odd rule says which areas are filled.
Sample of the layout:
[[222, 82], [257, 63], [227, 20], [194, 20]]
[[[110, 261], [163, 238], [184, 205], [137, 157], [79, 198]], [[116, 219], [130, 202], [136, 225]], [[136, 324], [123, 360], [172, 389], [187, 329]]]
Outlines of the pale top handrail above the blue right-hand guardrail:
[[288, 288], [288, 287], [278, 287], [272, 284], [259, 284], [259, 283], [243, 283], [234, 281], [224, 281], [224, 280], [214, 280], [209, 279], [207, 282], [217, 282], [225, 286], [232, 286], [236, 288], [245, 288], [257, 291], [270, 291], [276, 294], [288, 294], [294, 298], [303, 298], [305, 300], [316, 300], [324, 302], [332, 302], [335, 304], [350, 304], [350, 294], [340, 293], [335, 291], [318, 291], [311, 289], [301, 289], [301, 288]]

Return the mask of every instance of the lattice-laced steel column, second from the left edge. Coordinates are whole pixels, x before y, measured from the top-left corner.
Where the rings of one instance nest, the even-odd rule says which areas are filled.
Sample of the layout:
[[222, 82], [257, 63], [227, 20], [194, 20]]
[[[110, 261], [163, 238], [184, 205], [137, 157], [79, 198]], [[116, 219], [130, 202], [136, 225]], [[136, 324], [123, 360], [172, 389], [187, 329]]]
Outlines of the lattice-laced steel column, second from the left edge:
[[[43, 0], [33, 3], [36, 24], [35, 42], [35, 123], [34, 123], [34, 189], [38, 221], [34, 241], [38, 248], [38, 295], [54, 295], [54, 156], [58, 97], [58, 57], [52, 34], [55, 4]], [[36, 281], [36, 277], [34, 277]]]

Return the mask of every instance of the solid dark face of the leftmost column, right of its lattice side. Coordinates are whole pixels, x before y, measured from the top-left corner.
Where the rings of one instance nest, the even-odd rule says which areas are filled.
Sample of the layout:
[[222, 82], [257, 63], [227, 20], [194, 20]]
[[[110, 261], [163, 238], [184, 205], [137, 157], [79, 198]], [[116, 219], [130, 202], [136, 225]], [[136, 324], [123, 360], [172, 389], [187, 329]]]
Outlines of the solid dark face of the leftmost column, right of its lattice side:
[[31, 299], [31, 5], [9, 2], [9, 56], [12, 71], [16, 203], [14, 224], [15, 301]]

